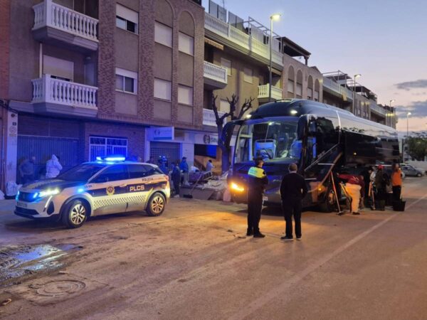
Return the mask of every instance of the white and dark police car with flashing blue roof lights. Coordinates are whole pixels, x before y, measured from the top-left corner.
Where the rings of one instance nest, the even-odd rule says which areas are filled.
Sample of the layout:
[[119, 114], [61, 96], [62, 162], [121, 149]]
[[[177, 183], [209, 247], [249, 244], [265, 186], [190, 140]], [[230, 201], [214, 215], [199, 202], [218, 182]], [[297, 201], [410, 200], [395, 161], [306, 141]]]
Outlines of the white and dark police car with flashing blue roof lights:
[[15, 214], [56, 218], [78, 228], [95, 215], [135, 210], [161, 215], [169, 197], [169, 178], [158, 166], [110, 156], [23, 186], [16, 195]]

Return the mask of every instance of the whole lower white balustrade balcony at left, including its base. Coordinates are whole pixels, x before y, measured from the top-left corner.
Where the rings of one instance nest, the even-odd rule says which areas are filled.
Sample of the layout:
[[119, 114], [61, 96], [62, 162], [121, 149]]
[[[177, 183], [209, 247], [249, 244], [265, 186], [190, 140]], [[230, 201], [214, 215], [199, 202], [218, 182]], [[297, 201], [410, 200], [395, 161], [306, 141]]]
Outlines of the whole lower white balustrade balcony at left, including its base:
[[97, 87], [82, 85], [43, 75], [33, 82], [33, 100], [36, 113], [68, 114], [70, 116], [95, 117], [97, 114]]

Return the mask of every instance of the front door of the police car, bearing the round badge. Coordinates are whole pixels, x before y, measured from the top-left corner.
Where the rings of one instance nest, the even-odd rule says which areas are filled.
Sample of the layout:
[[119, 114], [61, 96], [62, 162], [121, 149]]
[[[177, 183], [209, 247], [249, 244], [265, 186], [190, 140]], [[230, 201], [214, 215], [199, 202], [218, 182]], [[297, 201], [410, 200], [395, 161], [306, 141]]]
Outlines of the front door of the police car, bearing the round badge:
[[110, 166], [90, 181], [93, 215], [125, 212], [127, 183], [129, 183], [129, 174], [125, 164]]

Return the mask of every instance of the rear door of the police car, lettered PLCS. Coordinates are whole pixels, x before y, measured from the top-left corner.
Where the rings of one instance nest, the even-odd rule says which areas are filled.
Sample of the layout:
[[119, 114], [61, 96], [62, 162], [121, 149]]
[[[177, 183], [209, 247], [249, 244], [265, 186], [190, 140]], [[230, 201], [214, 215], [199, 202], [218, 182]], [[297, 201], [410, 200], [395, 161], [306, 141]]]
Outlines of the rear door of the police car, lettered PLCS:
[[127, 211], [144, 210], [148, 200], [144, 181], [148, 174], [147, 169], [143, 164], [128, 164], [127, 170], [130, 178], [127, 184]]

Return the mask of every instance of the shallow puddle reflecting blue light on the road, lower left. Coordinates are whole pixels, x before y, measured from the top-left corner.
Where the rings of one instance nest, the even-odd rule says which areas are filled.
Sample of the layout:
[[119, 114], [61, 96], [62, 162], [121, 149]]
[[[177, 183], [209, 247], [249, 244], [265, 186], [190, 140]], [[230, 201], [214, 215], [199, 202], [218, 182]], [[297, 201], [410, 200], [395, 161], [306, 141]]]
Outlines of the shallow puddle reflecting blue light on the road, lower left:
[[60, 257], [80, 250], [75, 245], [11, 245], [0, 247], [0, 287], [18, 278], [63, 267]]

